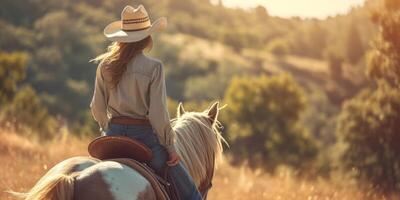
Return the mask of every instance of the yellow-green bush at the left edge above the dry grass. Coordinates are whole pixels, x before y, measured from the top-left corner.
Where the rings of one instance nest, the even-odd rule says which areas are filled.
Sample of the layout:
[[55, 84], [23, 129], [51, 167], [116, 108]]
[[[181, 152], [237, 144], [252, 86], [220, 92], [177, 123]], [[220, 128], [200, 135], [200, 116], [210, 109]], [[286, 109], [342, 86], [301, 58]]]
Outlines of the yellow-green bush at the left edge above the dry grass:
[[32, 87], [20, 87], [26, 68], [26, 54], [0, 52], [0, 122], [13, 122], [16, 128], [24, 129], [20, 133], [34, 132], [50, 138], [56, 132], [56, 120]]

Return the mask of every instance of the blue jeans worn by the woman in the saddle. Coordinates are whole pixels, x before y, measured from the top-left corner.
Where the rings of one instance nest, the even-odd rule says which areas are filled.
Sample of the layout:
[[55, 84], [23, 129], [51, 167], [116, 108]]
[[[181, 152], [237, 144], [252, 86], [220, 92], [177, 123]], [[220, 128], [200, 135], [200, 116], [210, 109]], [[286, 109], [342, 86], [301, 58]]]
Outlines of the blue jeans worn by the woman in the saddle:
[[[153, 152], [153, 159], [150, 161], [150, 167], [158, 175], [163, 174], [163, 170], [168, 160], [168, 152], [162, 146], [151, 126], [146, 125], [119, 125], [110, 124], [106, 135], [109, 136], [127, 136], [145, 144]], [[201, 195], [193, 182], [192, 177], [183, 167], [182, 163], [169, 168], [170, 175], [179, 190], [182, 200], [201, 200]]]

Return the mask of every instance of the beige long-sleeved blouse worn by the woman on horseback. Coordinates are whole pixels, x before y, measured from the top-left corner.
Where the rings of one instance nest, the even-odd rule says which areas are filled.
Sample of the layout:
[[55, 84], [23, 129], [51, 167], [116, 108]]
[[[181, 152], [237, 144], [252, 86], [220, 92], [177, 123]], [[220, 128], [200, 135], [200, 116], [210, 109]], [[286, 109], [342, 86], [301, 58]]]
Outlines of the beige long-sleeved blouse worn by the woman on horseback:
[[138, 54], [127, 65], [119, 84], [111, 88], [110, 76], [100, 63], [97, 67], [91, 111], [101, 130], [117, 116], [149, 119], [159, 141], [174, 150], [175, 133], [167, 110], [165, 76], [161, 61]]

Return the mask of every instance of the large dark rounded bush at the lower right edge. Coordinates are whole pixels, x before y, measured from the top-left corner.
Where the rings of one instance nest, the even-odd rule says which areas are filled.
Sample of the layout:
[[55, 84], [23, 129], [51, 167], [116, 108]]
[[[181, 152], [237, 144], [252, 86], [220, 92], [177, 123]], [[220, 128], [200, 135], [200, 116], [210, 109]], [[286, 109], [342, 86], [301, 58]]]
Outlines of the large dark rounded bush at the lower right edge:
[[379, 189], [399, 190], [400, 91], [384, 83], [379, 88], [345, 103], [337, 131], [348, 143], [348, 169]]

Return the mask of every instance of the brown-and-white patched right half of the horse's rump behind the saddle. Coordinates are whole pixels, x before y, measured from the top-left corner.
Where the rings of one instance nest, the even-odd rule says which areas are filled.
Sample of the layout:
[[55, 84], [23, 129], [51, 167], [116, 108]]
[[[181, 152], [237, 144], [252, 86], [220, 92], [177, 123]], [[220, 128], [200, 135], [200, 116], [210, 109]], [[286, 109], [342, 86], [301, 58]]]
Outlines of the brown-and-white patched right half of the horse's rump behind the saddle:
[[115, 161], [99, 162], [81, 171], [75, 178], [74, 194], [76, 200], [156, 199], [147, 179]]

